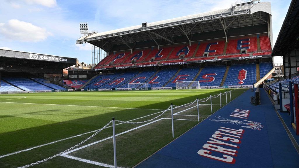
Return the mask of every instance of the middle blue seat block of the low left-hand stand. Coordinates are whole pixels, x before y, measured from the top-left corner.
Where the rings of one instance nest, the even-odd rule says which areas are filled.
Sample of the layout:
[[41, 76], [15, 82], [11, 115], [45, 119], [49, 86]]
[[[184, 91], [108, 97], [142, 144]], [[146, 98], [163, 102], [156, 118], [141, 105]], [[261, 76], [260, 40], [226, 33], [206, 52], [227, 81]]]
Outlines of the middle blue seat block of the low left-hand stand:
[[37, 83], [33, 80], [24, 77], [3, 77], [8, 83], [15, 85], [24, 91], [41, 91], [41, 90], [53, 90], [48, 86]]

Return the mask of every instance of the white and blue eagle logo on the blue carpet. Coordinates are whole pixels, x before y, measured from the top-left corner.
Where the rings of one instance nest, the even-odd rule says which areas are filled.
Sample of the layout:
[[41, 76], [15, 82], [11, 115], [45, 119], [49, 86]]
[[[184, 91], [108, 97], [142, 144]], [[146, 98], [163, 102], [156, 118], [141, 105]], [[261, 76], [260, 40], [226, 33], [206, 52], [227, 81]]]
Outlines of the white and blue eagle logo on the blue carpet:
[[216, 116], [216, 118], [218, 118], [219, 120], [216, 120], [216, 119], [210, 119], [210, 120], [220, 122], [220, 123], [231, 123], [231, 124], [236, 124], [236, 125], [244, 124], [245, 126], [241, 126], [241, 127], [250, 128], [250, 129], [254, 129], [254, 130], [261, 130], [264, 127], [261, 125], [261, 123], [258, 123], [255, 121], [230, 120], [230, 119], [227, 119], [227, 118], [224, 118], [221, 116]]

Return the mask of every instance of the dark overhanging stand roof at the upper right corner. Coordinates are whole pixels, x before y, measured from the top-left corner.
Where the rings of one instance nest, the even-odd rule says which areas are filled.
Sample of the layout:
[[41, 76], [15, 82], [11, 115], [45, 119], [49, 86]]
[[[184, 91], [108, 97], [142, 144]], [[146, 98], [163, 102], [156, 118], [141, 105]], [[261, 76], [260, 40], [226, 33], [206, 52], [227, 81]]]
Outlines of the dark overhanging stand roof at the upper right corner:
[[299, 47], [299, 1], [292, 0], [286, 18], [278, 34], [272, 56], [287, 56], [289, 50]]

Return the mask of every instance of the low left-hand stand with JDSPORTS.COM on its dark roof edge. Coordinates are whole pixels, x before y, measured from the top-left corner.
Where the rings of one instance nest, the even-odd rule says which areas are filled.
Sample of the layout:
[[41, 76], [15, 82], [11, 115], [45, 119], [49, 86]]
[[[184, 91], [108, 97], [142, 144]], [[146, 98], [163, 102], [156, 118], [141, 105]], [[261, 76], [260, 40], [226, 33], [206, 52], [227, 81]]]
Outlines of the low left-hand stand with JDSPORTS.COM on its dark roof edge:
[[62, 70], [75, 58], [0, 49], [0, 94], [66, 91]]

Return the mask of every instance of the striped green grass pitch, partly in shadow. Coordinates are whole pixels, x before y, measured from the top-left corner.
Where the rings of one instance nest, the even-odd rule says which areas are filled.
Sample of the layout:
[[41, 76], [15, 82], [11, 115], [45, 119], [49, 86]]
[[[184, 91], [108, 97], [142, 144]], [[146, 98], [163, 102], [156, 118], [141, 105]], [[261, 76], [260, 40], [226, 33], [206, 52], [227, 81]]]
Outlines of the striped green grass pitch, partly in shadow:
[[[0, 156], [100, 129], [106, 125], [112, 117], [123, 121], [132, 120], [160, 112], [159, 109], [167, 109], [171, 103], [174, 105], [183, 105], [196, 100], [196, 97], [201, 99], [210, 96], [210, 94], [219, 94], [220, 91], [223, 93], [225, 89], [60, 92], [0, 95]], [[243, 91], [244, 89], [233, 90], [231, 92], [232, 99], [239, 96]], [[212, 103], [214, 104], [213, 112], [215, 112], [220, 108], [219, 97], [213, 98]], [[210, 115], [210, 100], [200, 104], [200, 115]], [[192, 106], [195, 105], [196, 104], [193, 104]], [[224, 95], [222, 96], [222, 105], [225, 105]], [[187, 108], [174, 109], [174, 113], [184, 109]], [[144, 117], [134, 122], [148, 120], [159, 114], [160, 113]], [[197, 109], [189, 109], [179, 114], [197, 115]], [[174, 116], [175, 119], [187, 119], [174, 121], [175, 137], [183, 134], [198, 123], [196, 116], [183, 115]], [[170, 111], [159, 118], [171, 118]], [[205, 117], [200, 117], [201, 120], [204, 118]], [[141, 125], [143, 124], [120, 124], [116, 126], [116, 133], [118, 134]], [[24, 166], [48, 158], [49, 156], [74, 146], [92, 134], [93, 133], [85, 134], [0, 158], [0, 167]], [[107, 128], [83, 145], [110, 136], [112, 136], [112, 128]], [[173, 140], [171, 120], [159, 120], [117, 136], [116, 139], [118, 166], [133, 167]], [[112, 147], [112, 139], [108, 139], [72, 152], [69, 155], [113, 165]], [[57, 158], [34, 167], [99, 166], [58, 156]]]

